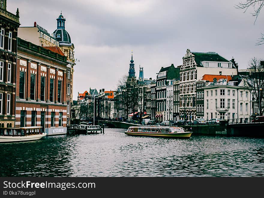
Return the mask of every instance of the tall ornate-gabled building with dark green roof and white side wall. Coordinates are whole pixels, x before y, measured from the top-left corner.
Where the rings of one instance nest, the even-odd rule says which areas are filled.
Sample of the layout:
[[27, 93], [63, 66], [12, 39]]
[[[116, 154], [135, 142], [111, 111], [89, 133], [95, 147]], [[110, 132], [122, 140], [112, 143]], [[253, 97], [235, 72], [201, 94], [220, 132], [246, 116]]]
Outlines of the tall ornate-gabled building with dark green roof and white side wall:
[[191, 52], [187, 49], [180, 69], [181, 117], [194, 120], [196, 118], [196, 81], [201, 80], [205, 74], [237, 75], [238, 65], [234, 59], [227, 60], [215, 52]]

